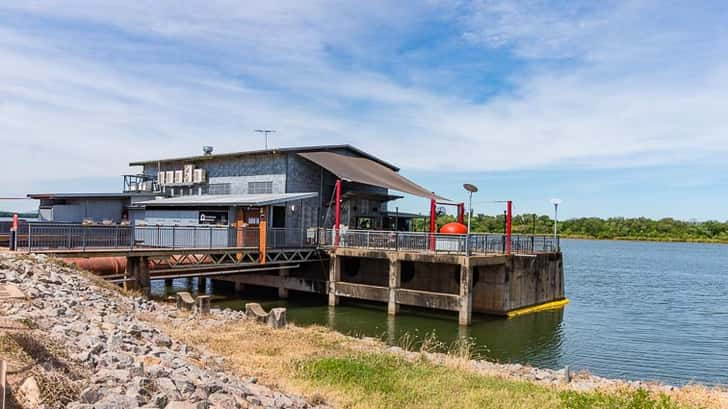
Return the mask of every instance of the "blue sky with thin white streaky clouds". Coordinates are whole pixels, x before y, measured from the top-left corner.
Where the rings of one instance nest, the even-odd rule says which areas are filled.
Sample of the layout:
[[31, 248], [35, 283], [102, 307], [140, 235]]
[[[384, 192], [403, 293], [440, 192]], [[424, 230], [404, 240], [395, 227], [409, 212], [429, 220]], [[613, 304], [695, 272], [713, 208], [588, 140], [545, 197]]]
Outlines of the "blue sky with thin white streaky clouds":
[[479, 213], [726, 220], [726, 21], [721, 1], [4, 1], [0, 197], [120, 191], [131, 161], [269, 128], [452, 200], [475, 184]]

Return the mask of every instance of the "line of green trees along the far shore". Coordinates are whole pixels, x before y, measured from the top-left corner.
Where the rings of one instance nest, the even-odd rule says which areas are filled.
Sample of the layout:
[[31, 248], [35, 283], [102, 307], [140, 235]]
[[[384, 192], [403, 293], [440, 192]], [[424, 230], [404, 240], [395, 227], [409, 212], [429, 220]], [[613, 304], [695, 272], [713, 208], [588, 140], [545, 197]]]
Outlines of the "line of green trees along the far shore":
[[[437, 218], [437, 226], [440, 228], [453, 221], [454, 216], [441, 215]], [[473, 232], [502, 233], [505, 231], [505, 216], [478, 214], [473, 216], [471, 224]], [[553, 234], [553, 228], [554, 221], [549, 216], [513, 216], [513, 234]], [[427, 231], [429, 220], [413, 220], [413, 229]], [[693, 222], [673, 218], [582, 217], [559, 221], [558, 231], [561, 237], [583, 239], [728, 242], [728, 221], [715, 220]]]

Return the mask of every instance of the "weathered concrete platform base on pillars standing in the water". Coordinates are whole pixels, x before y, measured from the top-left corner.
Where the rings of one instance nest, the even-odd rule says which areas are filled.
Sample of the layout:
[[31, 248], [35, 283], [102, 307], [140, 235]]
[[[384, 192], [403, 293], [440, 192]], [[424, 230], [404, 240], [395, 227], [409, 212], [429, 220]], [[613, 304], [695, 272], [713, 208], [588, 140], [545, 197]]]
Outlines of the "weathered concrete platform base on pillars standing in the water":
[[[328, 260], [301, 263], [294, 269], [220, 276], [236, 287], [272, 287], [328, 295], [335, 307], [341, 297], [386, 304], [395, 316], [400, 306], [457, 313], [467, 326], [473, 312], [515, 316], [563, 306], [561, 253], [472, 255], [338, 248]], [[561, 303], [561, 304], [559, 304]]]

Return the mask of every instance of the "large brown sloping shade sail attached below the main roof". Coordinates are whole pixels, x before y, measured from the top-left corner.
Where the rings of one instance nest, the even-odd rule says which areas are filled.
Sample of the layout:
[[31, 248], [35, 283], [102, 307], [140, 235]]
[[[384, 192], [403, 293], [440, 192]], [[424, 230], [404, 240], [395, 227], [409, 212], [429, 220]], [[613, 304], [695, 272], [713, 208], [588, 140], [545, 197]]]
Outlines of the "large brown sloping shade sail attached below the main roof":
[[386, 187], [428, 199], [448, 200], [371, 159], [334, 152], [301, 152], [299, 155], [347, 182]]

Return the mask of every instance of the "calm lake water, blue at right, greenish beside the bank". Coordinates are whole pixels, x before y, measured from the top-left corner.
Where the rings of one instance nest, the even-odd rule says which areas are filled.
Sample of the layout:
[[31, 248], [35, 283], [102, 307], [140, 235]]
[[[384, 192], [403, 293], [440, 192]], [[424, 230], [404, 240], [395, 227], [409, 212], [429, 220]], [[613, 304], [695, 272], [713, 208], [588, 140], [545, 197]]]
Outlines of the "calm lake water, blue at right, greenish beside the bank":
[[[234, 295], [229, 286], [207, 286], [218, 305], [242, 308], [255, 300], [287, 306], [291, 321], [322, 324], [352, 335], [397, 343], [403, 334], [434, 333], [450, 343], [469, 336], [479, 353], [501, 362], [540, 367], [570, 365], [592, 373], [671, 384], [728, 384], [728, 245], [564, 240], [563, 311], [515, 319], [474, 315], [461, 329], [454, 315], [403, 308], [388, 318], [383, 305], [348, 302], [335, 309], [319, 296], [275, 292]], [[173, 288], [155, 283], [157, 294]], [[196, 288], [196, 286], [193, 286]], [[224, 297], [224, 298], [223, 298]]]

